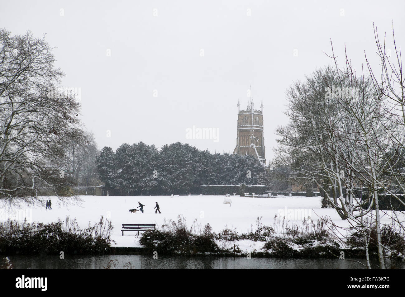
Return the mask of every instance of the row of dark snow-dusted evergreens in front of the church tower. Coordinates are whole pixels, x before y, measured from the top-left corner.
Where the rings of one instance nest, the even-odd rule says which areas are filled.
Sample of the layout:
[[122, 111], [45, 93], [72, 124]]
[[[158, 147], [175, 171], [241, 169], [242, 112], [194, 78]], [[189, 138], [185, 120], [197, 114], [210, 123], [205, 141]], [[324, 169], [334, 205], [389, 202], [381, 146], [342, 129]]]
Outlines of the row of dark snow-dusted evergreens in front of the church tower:
[[[114, 161], [105, 161], [111, 158]], [[188, 194], [198, 192], [201, 185], [268, 185], [255, 156], [211, 154], [181, 142], [166, 144], [161, 151], [143, 142], [125, 143], [115, 155], [111, 148], [103, 148], [98, 162], [100, 178], [105, 182], [106, 176], [113, 177], [109, 185], [128, 195]]]

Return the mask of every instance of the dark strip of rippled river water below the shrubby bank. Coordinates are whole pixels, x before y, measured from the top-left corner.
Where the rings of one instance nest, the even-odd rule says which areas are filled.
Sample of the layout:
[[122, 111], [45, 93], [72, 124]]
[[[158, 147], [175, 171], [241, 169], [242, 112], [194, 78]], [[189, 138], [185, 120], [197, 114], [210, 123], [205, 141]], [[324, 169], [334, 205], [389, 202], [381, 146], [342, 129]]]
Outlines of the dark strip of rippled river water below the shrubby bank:
[[[221, 258], [173, 257], [152, 255], [103, 255], [103, 256], [10, 256], [14, 269], [104, 269], [110, 260], [117, 259], [115, 269], [122, 269], [130, 262], [132, 269], [364, 269], [364, 259], [270, 259], [270, 258]], [[391, 264], [387, 262], [388, 267]], [[378, 261], [373, 261], [378, 268]], [[113, 268], [113, 267], [112, 267]], [[393, 268], [405, 269], [405, 263]]]

